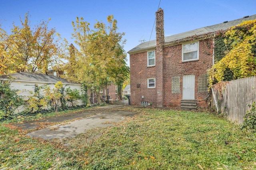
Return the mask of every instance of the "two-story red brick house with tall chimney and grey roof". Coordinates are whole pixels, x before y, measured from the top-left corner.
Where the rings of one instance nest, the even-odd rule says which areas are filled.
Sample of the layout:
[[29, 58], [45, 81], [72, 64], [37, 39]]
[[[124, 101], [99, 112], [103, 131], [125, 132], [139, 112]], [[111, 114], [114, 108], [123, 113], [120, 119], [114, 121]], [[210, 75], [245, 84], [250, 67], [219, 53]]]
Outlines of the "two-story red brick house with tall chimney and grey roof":
[[214, 35], [256, 15], [164, 37], [164, 12], [156, 12], [156, 40], [130, 54], [132, 105], [207, 107], [207, 70], [214, 63]]

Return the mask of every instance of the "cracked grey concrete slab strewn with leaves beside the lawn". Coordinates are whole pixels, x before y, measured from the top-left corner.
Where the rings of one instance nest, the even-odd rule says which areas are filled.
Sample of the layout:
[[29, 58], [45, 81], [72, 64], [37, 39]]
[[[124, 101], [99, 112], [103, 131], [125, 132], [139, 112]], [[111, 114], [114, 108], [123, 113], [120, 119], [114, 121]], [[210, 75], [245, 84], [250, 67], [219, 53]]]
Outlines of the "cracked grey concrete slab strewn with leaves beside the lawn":
[[65, 125], [58, 124], [26, 134], [30, 137], [40, 137], [42, 139], [63, 139], [65, 137], [75, 137], [79, 133], [83, 133], [88, 129], [92, 129], [95, 127], [112, 126], [112, 122], [124, 121], [126, 117], [132, 117], [133, 115], [138, 114], [137, 112], [118, 110], [123, 107], [124, 106], [122, 105], [96, 107], [95, 110], [88, 110], [78, 113], [69, 113], [65, 115], [40, 119], [38, 121], [24, 122], [22, 124], [16, 124], [16, 126], [20, 127], [23, 130], [36, 129], [37, 123], [40, 122], [63, 122], [77, 119], [65, 123]]

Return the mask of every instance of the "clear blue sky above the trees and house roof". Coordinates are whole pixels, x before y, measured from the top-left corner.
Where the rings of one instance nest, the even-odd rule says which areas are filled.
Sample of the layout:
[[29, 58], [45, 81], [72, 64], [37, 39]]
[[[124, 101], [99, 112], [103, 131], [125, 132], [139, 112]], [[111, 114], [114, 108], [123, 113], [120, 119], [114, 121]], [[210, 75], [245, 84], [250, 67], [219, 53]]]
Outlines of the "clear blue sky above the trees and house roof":
[[[0, 0], [0, 24], [10, 32], [12, 23], [20, 24], [20, 16], [29, 12], [32, 25], [51, 18], [49, 27], [55, 27], [62, 38], [71, 39], [71, 22], [83, 17], [92, 25], [96, 20], [106, 22], [113, 14], [120, 32], [125, 32], [127, 52], [140, 40], [154, 40], [150, 34], [160, 0]], [[235, 20], [256, 14], [256, 0], [161, 0], [164, 10], [165, 35], [174, 35], [200, 27]], [[127, 54], [128, 65], [129, 55]]]

